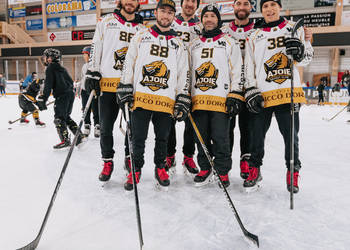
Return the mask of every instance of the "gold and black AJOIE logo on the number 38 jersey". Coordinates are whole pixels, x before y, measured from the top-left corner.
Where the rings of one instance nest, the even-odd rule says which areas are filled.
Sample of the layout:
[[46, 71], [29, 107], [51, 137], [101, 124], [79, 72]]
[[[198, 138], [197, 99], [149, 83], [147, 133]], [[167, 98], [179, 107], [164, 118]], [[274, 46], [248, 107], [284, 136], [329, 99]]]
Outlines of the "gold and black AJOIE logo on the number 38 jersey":
[[284, 83], [287, 79], [291, 79], [290, 62], [288, 57], [279, 52], [273, 55], [264, 63], [266, 72], [266, 81], [278, 84]]

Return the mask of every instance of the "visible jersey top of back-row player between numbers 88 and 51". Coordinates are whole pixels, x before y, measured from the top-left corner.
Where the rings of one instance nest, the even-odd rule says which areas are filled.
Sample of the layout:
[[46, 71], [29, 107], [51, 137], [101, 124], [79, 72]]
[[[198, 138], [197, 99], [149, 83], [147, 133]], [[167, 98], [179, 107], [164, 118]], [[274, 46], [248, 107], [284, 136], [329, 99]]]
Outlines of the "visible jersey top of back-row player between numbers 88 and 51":
[[181, 37], [184, 45], [189, 46], [190, 42], [200, 35], [200, 25], [200, 23], [181, 21], [178, 17], [175, 17], [171, 28]]

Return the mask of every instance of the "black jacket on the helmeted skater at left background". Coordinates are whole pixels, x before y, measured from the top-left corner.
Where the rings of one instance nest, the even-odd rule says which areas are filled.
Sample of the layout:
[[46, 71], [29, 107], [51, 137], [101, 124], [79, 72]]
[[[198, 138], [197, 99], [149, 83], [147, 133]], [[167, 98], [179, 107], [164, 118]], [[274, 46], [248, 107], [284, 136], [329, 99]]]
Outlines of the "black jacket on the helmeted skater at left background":
[[73, 80], [67, 70], [57, 62], [50, 63], [45, 71], [45, 87], [43, 91], [44, 101], [51, 93], [55, 98], [73, 91]]

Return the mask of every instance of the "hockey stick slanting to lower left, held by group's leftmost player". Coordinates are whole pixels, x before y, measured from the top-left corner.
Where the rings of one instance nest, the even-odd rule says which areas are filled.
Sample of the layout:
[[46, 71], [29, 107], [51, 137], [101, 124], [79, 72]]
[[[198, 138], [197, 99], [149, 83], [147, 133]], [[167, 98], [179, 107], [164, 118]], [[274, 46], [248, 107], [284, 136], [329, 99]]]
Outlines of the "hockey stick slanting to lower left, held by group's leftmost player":
[[44, 228], [45, 228], [46, 222], [47, 222], [47, 220], [48, 220], [48, 218], [50, 216], [50, 212], [51, 212], [53, 203], [55, 202], [58, 190], [59, 190], [59, 188], [61, 186], [64, 174], [65, 174], [66, 169], [68, 167], [68, 163], [69, 163], [70, 157], [71, 157], [71, 155], [73, 153], [74, 146], [77, 143], [77, 140], [78, 140], [78, 137], [79, 137], [79, 134], [80, 134], [80, 129], [81, 129], [83, 123], [84, 123], [85, 116], [86, 116], [86, 114], [88, 112], [88, 109], [90, 107], [90, 104], [91, 104], [91, 101], [92, 101], [92, 98], [93, 98], [94, 95], [95, 95], [95, 91], [93, 90], [93, 91], [91, 91], [89, 99], [88, 99], [88, 101], [86, 103], [86, 106], [85, 106], [85, 109], [84, 109], [84, 113], [83, 113], [83, 117], [81, 118], [81, 120], [79, 122], [78, 130], [77, 130], [77, 132], [74, 135], [73, 143], [70, 146], [68, 155], [66, 157], [66, 160], [65, 160], [64, 165], [63, 165], [62, 170], [61, 170], [60, 177], [58, 178], [55, 190], [54, 190], [54, 192], [53, 192], [53, 194], [51, 196], [51, 201], [50, 201], [49, 207], [46, 210], [46, 214], [45, 214], [44, 220], [41, 223], [39, 233], [38, 233], [38, 235], [36, 236], [36, 238], [32, 242], [30, 242], [28, 245], [26, 245], [24, 247], [19, 248], [18, 250], [34, 250], [34, 249], [36, 249], [36, 247], [39, 244], [40, 238], [41, 238], [41, 236], [42, 236], [42, 234], [44, 232]]

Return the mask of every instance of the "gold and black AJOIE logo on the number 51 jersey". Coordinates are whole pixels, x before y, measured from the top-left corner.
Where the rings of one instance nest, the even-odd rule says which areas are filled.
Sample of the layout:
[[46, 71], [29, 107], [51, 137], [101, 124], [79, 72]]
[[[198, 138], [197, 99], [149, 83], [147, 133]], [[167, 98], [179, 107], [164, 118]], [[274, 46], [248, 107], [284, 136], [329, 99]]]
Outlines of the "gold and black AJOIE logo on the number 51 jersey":
[[199, 88], [202, 91], [208, 89], [215, 89], [217, 87], [216, 81], [218, 79], [218, 70], [215, 68], [212, 62], [202, 63], [199, 68], [196, 69], [196, 83], [195, 88]]

